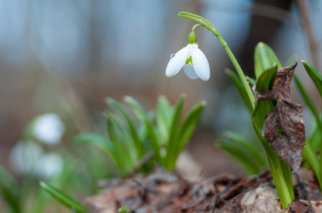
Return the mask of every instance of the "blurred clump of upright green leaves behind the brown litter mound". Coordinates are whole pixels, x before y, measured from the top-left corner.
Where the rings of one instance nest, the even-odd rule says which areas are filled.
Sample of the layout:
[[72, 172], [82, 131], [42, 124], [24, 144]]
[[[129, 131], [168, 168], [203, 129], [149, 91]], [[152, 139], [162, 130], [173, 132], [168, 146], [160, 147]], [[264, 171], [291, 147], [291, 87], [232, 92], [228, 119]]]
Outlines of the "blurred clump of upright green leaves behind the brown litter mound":
[[108, 137], [83, 133], [74, 138], [75, 143], [91, 143], [103, 148], [123, 176], [151, 152], [155, 158], [143, 163], [141, 172], [149, 172], [155, 160], [167, 170], [174, 170], [178, 156], [197, 127], [205, 102], [194, 105], [183, 117], [185, 95], [173, 106], [166, 97], [160, 96], [155, 111], [145, 111], [133, 97], [126, 96], [124, 101], [130, 112], [115, 99], [106, 99], [111, 108], [104, 111]]

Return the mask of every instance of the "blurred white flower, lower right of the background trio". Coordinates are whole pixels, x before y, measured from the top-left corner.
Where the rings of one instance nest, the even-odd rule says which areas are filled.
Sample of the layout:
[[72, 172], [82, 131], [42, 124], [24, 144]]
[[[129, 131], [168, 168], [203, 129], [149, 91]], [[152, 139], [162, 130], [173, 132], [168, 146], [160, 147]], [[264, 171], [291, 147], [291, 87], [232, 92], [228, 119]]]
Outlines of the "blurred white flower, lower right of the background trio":
[[63, 158], [58, 153], [42, 155], [36, 165], [35, 175], [40, 179], [47, 179], [59, 175], [63, 170]]

